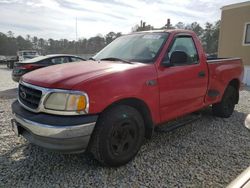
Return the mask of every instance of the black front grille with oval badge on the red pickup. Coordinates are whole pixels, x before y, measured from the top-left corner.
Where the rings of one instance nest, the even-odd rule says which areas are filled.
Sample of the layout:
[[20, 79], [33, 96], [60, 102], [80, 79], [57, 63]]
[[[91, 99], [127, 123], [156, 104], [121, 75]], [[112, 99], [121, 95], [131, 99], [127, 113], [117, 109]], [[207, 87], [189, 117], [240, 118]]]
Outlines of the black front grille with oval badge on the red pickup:
[[42, 91], [19, 84], [19, 100], [31, 109], [37, 109], [41, 100]]

